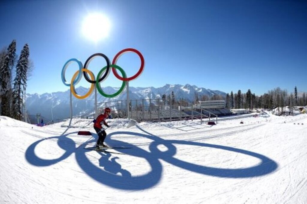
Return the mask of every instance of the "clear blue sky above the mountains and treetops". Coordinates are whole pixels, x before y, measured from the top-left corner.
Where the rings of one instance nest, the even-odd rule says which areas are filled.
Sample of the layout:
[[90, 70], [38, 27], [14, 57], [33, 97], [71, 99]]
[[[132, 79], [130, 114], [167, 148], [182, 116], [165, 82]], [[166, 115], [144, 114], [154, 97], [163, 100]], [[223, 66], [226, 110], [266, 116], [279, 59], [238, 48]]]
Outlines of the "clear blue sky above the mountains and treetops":
[[[99, 12], [111, 21], [109, 37], [87, 40], [81, 23]], [[64, 63], [84, 62], [95, 52], [110, 60], [124, 48], [142, 52], [146, 66], [130, 82], [134, 87], [189, 83], [198, 87], [263, 94], [275, 87], [307, 91], [306, 1], [1, 1], [0, 48], [17, 40], [17, 54], [29, 44], [35, 70], [29, 93], [67, 90], [61, 81]], [[119, 60], [128, 76], [139, 59], [128, 53]], [[105, 66], [95, 59], [95, 75]], [[77, 66], [68, 68], [70, 81]], [[77, 86], [90, 87], [83, 78]], [[119, 87], [113, 74], [101, 86]]]

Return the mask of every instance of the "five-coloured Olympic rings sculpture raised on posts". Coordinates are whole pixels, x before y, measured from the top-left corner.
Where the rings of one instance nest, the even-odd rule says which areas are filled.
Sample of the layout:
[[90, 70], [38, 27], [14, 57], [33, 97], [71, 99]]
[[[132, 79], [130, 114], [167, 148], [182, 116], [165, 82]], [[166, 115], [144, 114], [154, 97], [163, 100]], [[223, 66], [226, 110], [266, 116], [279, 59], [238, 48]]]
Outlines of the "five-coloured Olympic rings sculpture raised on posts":
[[[131, 76], [131, 77], [127, 77], [126, 76], [126, 73], [125, 71], [119, 67], [118, 65], [116, 65], [117, 63], [117, 60], [119, 59], [119, 57], [124, 54], [125, 52], [135, 52], [141, 59], [141, 67], [139, 68], [138, 72]], [[93, 60], [95, 57], [97, 56], [101, 56], [103, 57], [106, 62], [107, 62], [107, 66], [103, 67], [97, 77], [95, 78], [95, 75], [87, 69], [88, 65], [90, 64], [91, 60]], [[66, 82], [66, 79], [65, 79], [65, 72], [67, 70], [67, 67], [72, 63], [72, 62], [76, 62], [79, 66], [79, 70], [76, 71], [76, 73], [73, 75], [70, 83], [67, 83]], [[92, 91], [94, 90], [94, 86], [96, 84], [96, 87], [97, 87], [97, 90], [98, 92], [103, 95], [104, 97], [108, 97], [108, 98], [112, 98], [112, 97], [115, 97], [117, 95], [119, 95], [126, 87], [126, 82], [127, 81], [132, 81], [134, 79], [136, 79], [139, 75], [141, 75], [142, 71], [144, 70], [144, 65], [145, 65], [145, 61], [144, 61], [144, 57], [142, 56], [141, 52], [139, 52], [138, 50], [136, 49], [133, 49], [133, 48], [126, 48], [126, 49], [123, 49], [122, 51], [120, 51], [119, 53], [117, 53], [112, 61], [112, 64], [110, 64], [110, 60], [109, 58], [104, 55], [103, 53], [95, 53], [93, 55], [91, 55], [86, 61], [85, 61], [85, 64], [84, 64], [84, 67], [83, 67], [83, 64], [82, 62], [80, 62], [80, 60], [77, 60], [76, 58], [72, 58], [70, 60], [68, 60], [64, 66], [63, 66], [63, 69], [62, 69], [62, 82], [70, 87], [70, 91], [72, 92], [72, 94], [76, 97], [76, 98], [79, 98], [79, 99], [84, 99], [84, 98], [87, 98], [89, 95], [91, 95]], [[112, 68], [112, 72], [113, 74], [115, 75], [115, 77], [119, 80], [122, 80], [122, 86], [120, 87], [120, 89], [114, 93], [114, 94], [106, 94], [103, 92], [103, 90], [101, 89], [100, 87], [100, 82], [102, 82], [104, 79], [107, 78], [107, 76], [109, 75], [110, 73], [110, 67]], [[120, 76], [116, 69], [118, 69], [121, 73], [122, 76]], [[90, 87], [90, 90], [83, 96], [80, 96], [76, 93], [76, 89], [75, 89], [75, 85], [77, 83], [80, 82], [81, 78], [82, 78], [82, 72], [83, 72], [83, 75], [84, 75], [84, 78], [87, 80], [87, 82], [91, 83], [91, 87]], [[104, 74], [103, 74], [104, 73]], [[87, 74], [90, 75], [90, 78], [88, 78]], [[102, 77], [100, 77], [101, 75], [103, 74]], [[96, 80], [95, 80], [96, 79]]]

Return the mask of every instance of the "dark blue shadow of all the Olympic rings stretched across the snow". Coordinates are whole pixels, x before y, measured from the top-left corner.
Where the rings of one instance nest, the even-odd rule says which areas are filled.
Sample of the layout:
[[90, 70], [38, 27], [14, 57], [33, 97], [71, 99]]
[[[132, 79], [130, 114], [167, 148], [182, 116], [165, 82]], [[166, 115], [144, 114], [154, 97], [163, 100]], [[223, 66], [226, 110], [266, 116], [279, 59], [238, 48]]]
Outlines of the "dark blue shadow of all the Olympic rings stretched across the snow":
[[[140, 127], [138, 128], [141, 129]], [[92, 135], [95, 137], [95, 139], [85, 142], [84, 144], [82, 144], [82, 147], [80, 148], [76, 148], [76, 143], [72, 139], [67, 137], [69, 134], [74, 134], [76, 132], [65, 134], [67, 130], [60, 136], [49, 137], [42, 140], [38, 140], [27, 148], [25, 153], [25, 158], [30, 164], [33, 164], [35, 166], [50, 166], [52, 164], [56, 164], [61, 160], [66, 159], [72, 153], [75, 153], [78, 165], [88, 176], [107, 186], [124, 190], [142, 190], [155, 186], [160, 181], [162, 175], [162, 164], [160, 163], [159, 159], [162, 159], [168, 162], [169, 164], [173, 164], [177, 167], [181, 167], [189, 171], [201, 173], [204, 175], [212, 175], [212, 176], [226, 177], [226, 178], [245, 178], [245, 177], [261, 176], [273, 172], [278, 167], [277, 163], [271, 160], [270, 158], [255, 152], [250, 152], [247, 150], [232, 148], [222, 145], [205, 144], [193, 141], [164, 140], [158, 136], [146, 132], [143, 129], [141, 130], [145, 134], [127, 132], [127, 131], [110, 133], [108, 134], [109, 137], [107, 137], [106, 142], [111, 146], [129, 147], [129, 148], [116, 149], [116, 151], [118, 152], [130, 156], [144, 158], [150, 165], [151, 170], [146, 174], [142, 175], [133, 176], [131, 172], [122, 169], [121, 165], [116, 161], [116, 159], [118, 159], [121, 156], [119, 154], [116, 154], [117, 157], [111, 158], [112, 153], [97, 152], [97, 154], [101, 156], [101, 158], [98, 159], [99, 165], [93, 164], [92, 161], [89, 160], [86, 154], [90, 150], [84, 149], [82, 147], [86, 146], [87, 144], [96, 142], [97, 135], [94, 133], [92, 133]], [[150, 140], [153, 140], [153, 142], [149, 144], [150, 151], [148, 152], [130, 143], [112, 139], [111, 136], [115, 135], [133, 135], [138, 137], [145, 137]], [[39, 158], [35, 154], [34, 150], [37, 144], [46, 139], [57, 139], [57, 144], [60, 146], [60, 148], [66, 150], [66, 152], [59, 158], [53, 160], [45, 160]], [[161, 152], [157, 148], [158, 145], [160, 144], [165, 145], [167, 147], [167, 151]], [[201, 166], [174, 158], [173, 156], [176, 154], [176, 147], [173, 144], [186, 144], [192, 146], [218, 148], [232, 152], [238, 152], [241, 154], [246, 154], [249, 156], [256, 157], [261, 160], [261, 163], [257, 166], [249, 168], [239, 168], [239, 169], [226, 169], [226, 168]], [[111, 160], [109, 160], [109, 158], [111, 158]], [[120, 173], [120, 175], [118, 173]]]

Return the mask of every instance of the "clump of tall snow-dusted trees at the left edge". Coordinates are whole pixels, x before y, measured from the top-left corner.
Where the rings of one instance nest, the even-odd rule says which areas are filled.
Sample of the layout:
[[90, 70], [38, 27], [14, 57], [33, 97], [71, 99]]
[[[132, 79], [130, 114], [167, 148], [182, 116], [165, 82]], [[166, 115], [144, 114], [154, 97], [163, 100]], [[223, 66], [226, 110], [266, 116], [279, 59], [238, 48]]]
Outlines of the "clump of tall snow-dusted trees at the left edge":
[[0, 115], [23, 120], [27, 80], [32, 71], [28, 44], [23, 46], [19, 58], [16, 40], [0, 50]]

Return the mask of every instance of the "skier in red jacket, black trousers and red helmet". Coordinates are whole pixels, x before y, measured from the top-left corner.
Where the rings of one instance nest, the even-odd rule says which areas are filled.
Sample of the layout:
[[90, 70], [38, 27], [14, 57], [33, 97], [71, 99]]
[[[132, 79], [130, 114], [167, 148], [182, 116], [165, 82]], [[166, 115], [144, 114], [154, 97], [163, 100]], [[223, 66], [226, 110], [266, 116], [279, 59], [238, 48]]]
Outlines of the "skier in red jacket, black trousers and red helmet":
[[100, 114], [94, 121], [94, 129], [98, 135], [98, 140], [96, 144], [97, 149], [99, 149], [99, 146], [107, 147], [106, 145], [103, 144], [104, 139], [106, 139], [107, 133], [105, 129], [101, 126], [101, 123], [103, 123], [107, 127], [110, 127], [110, 125], [106, 123], [106, 119], [109, 118], [110, 112], [111, 112], [110, 108], [105, 108], [104, 114]]

